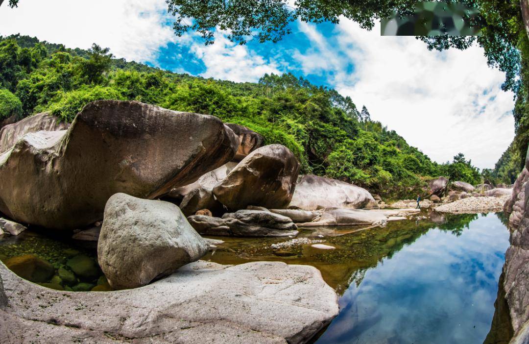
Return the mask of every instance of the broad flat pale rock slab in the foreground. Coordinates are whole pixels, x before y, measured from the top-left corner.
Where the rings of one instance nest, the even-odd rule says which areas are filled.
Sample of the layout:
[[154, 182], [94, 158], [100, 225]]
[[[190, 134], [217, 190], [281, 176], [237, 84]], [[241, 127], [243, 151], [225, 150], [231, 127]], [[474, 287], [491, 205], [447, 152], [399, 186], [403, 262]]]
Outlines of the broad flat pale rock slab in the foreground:
[[117, 292], [54, 291], [2, 263], [0, 277], [2, 343], [303, 343], [338, 314], [320, 271], [283, 262], [197, 261]]

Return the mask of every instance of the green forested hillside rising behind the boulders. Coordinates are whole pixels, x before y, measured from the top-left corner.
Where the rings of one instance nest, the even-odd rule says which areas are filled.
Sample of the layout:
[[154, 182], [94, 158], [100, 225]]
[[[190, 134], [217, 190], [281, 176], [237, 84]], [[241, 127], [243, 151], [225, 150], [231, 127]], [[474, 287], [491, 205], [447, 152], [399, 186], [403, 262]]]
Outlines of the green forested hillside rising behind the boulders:
[[233, 83], [115, 59], [95, 44], [90, 50], [65, 49], [27, 36], [0, 37], [0, 121], [44, 111], [72, 121], [97, 99], [136, 99], [248, 126], [267, 144], [290, 148], [303, 173], [386, 197], [411, 197], [440, 175], [472, 184], [482, 180], [463, 155], [437, 164], [372, 121], [366, 108], [359, 111], [350, 97], [291, 74]]

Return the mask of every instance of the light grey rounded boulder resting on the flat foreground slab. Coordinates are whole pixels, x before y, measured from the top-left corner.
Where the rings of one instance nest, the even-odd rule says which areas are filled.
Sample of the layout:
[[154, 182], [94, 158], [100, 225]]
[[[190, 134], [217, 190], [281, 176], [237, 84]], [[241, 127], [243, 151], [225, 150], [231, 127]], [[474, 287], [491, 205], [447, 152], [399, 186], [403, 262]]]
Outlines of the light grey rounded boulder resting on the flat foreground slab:
[[108, 283], [126, 289], [167, 276], [208, 248], [176, 205], [118, 193], [105, 206], [97, 259]]

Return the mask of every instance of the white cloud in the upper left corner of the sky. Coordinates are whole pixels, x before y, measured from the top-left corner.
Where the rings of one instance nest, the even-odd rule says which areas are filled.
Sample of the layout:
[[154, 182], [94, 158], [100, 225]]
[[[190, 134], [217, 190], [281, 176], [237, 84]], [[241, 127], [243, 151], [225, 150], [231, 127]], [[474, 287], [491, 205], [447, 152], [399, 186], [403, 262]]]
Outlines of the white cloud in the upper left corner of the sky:
[[169, 18], [163, 0], [22, 0], [18, 8], [0, 7], [0, 34], [37, 36], [68, 48], [97, 43], [115, 56], [143, 62], [177, 39], [165, 25]]

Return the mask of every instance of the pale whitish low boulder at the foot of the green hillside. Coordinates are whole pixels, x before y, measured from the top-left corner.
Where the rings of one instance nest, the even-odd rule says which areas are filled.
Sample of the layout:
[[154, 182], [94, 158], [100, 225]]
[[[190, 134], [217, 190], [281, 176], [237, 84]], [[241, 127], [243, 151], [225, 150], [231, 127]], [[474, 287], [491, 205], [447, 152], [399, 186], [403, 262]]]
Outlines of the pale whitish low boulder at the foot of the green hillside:
[[304, 175], [298, 178], [289, 208], [316, 210], [326, 208], [377, 208], [369, 191], [340, 180]]

